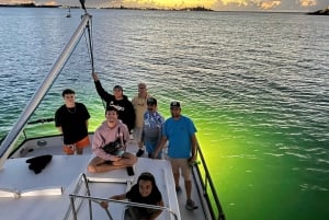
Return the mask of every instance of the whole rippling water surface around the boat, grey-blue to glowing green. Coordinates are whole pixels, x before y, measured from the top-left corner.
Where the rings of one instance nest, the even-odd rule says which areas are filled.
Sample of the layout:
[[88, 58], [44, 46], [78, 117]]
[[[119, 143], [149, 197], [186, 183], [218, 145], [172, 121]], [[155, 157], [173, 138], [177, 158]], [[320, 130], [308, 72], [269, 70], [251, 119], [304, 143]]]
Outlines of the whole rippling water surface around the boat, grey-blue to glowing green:
[[[95, 70], [128, 97], [145, 81], [169, 116], [179, 100], [198, 129], [228, 219], [327, 220], [329, 24], [294, 13], [91, 10]], [[72, 18], [81, 12], [71, 10]], [[75, 14], [76, 13], [76, 14]], [[20, 16], [18, 16], [20, 14]], [[3, 136], [42, 82], [77, 19], [61, 9], [0, 9]], [[4, 25], [5, 24], [5, 25]], [[29, 33], [29, 34], [27, 34]], [[11, 37], [9, 37], [11, 36]], [[82, 38], [33, 118], [52, 117], [65, 88], [103, 106]], [[33, 125], [29, 132], [56, 132]], [[271, 213], [271, 215], [269, 215]]]

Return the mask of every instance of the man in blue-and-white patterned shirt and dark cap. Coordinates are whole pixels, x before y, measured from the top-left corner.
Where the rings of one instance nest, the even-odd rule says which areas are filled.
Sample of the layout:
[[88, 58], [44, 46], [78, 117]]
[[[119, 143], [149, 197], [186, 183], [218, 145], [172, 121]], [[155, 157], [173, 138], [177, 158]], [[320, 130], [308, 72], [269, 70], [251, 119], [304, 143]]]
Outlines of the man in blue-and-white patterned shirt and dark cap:
[[[158, 104], [155, 97], [147, 99], [147, 111], [144, 113], [144, 125], [138, 152], [143, 151], [143, 146], [145, 146], [149, 158], [151, 158], [151, 154], [161, 141], [162, 127], [164, 124], [164, 118], [158, 113], [157, 106]], [[161, 152], [158, 153], [157, 158], [161, 159]]]

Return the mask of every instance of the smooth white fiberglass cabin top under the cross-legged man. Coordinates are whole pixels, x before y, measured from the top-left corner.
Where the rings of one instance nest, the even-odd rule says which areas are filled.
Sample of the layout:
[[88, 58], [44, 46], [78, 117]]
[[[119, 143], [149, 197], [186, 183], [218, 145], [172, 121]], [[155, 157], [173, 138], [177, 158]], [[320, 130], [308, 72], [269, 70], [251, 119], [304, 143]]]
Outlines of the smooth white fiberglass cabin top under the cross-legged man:
[[[46, 196], [21, 196], [0, 198], [1, 219], [64, 219], [69, 208], [69, 194], [73, 193], [76, 183], [81, 173], [87, 177], [98, 181], [112, 181], [114, 183], [89, 183], [92, 197], [107, 198], [115, 194], [123, 194], [129, 185], [120, 182], [136, 182], [137, 176], [144, 172], [151, 172], [157, 180], [158, 187], [162, 194], [164, 205], [179, 215], [178, 201], [172, 196], [173, 178], [171, 173], [167, 173], [170, 167], [167, 161], [155, 161], [150, 159], [139, 159], [135, 165], [135, 175], [128, 176], [125, 169], [116, 170], [102, 174], [90, 174], [86, 167], [90, 160], [89, 155], [54, 155], [52, 162], [39, 173], [34, 174], [29, 170], [26, 159], [8, 160], [5, 166], [0, 173], [0, 188], [15, 189], [25, 192], [39, 188], [58, 188], [63, 187], [63, 195]], [[115, 183], [117, 181], [117, 183]], [[170, 197], [169, 197], [170, 195]], [[86, 196], [86, 195], [83, 195]], [[89, 219], [88, 200], [78, 211], [78, 219]], [[93, 206], [93, 219], [109, 219], [106, 212], [95, 202]], [[113, 219], [123, 219], [125, 206], [110, 202], [110, 213]], [[158, 218], [171, 219], [168, 212], [162, 212]], [[173, 219], [173, 218], [172, 218]]]

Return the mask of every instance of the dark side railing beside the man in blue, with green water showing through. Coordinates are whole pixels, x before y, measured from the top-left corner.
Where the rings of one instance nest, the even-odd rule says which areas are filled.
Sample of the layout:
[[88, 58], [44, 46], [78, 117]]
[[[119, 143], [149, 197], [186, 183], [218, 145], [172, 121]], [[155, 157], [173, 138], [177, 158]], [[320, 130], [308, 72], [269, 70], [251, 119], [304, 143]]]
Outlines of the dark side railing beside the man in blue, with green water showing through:
[[[197, 161], [194, 164], [193, 169], [193, 177], [194, 181], [200, 180], [201, 181], [201, 188], [197, 188], [197, 193], [200, 194], [200, 197], [204, 197], [207, 202], [207, 207], [209, 207], [209, 212], [212, 216], [212, 219], [214, 220], [226, 220], [224, 210], [222, 208], [219, 198], [216, 193], [215, 185], [213, 183], [211, 173], [208, 171], [208, 167], [205, 162], [205, 158], [202, 153], [202, 150], [200, 146], [197, 146], [197, 155], [200, 161]], [[203, 167], [203, 170], [202, 170]], [[196, 173], [195, 173], [196, 172]]]

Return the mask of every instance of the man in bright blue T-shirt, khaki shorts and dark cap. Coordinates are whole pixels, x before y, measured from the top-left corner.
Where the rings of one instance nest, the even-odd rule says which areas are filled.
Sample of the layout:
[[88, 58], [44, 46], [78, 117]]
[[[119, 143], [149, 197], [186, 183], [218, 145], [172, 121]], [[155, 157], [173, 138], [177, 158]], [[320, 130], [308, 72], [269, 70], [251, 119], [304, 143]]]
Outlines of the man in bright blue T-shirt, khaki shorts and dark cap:
[[179, 102], [174, 101], [170, 103], [170, 113], [171, 118], [168, 118], [164, 123], [162, 140], [154, 152], [152, 158], [158, 157], [168, 140], [168, 155], [172, 166], [175, 190], [178, 194], [181, 192], [179, 185], [181, 171], [186, 193], [185, 208], [194, 210], [197, 206], [195, 206], [191, 198], [192, 181], [190, 164], [196, 160], [196, 128], [189, 117], [181, 115], [181, 104]]

